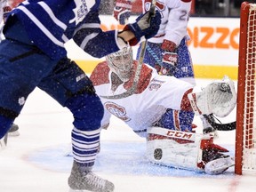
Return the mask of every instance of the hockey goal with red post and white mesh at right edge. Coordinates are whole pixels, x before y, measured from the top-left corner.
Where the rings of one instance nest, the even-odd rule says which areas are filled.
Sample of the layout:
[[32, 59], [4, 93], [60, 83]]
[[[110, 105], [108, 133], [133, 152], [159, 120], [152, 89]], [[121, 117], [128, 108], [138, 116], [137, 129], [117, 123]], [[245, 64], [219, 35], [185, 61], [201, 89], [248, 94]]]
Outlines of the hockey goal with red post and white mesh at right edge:
[[236, 174], [256, 174], [256, 4], [240, 13], [236, 110]]

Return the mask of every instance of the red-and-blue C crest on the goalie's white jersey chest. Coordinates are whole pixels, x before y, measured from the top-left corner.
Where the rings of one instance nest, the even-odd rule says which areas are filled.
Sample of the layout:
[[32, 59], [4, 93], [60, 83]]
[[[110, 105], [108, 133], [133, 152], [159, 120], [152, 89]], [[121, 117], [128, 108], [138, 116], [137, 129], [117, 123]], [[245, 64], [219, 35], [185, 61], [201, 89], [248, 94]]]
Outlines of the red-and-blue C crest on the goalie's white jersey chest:
[[119, 106], [114, 102], [105, 102], [104, 106], [105, 106], [105, 108], [107, 108], [109, 113], [120, 118], [124, 122], [128, 122], [131, 120], [131, 118], [129, 116], [126, 116], [126, 110], [124, 107]]

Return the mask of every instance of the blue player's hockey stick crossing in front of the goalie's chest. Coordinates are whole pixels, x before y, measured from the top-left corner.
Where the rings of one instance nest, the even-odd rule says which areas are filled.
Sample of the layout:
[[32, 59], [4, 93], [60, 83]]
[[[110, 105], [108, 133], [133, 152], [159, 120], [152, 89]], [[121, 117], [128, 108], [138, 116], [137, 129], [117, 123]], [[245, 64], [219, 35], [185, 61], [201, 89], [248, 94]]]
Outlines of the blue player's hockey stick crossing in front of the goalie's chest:
[[[152, 0], [150, 10], [149, 10], [148, 20], [150, 20], [150, 18], [155, 14], [155, 8], [156, 8], [156, 0]], [[148, 39], [146, 39], [146, 41], [143, 41], [141, 43], [140, 58], [138, 60], [138, 66], [136, 68], [136, 72], [135, 72], [135, 76], [134, 76], [134, 79], [133, 79], [132, 87], [127, 92], [123, 92], [121, 94], [110, 95], [110, 96], [100, 95], [100, 97], [105, 98], [105, 99], [118, 100], [118, 99], [129, 97], [130, 95], [132, 95], [136, 92], [137, 84], [139, 83], [139, 79], [140, 79], [140, 71], [141, 71], [141, 68], [142, 68], [142, 65], [143, 65], [143, 60], [144, 60], [144, 55], [145, 55], [145, 52], [146, 52], [147, 44], [148, 44]]]

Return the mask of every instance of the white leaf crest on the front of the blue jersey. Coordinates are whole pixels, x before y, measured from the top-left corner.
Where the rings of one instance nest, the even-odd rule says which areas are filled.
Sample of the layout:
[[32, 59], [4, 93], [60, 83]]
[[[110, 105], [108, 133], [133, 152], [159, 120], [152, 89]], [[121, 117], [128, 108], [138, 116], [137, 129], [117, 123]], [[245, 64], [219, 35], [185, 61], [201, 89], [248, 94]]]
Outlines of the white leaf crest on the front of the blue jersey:
[[[75, 0], [76, 8], [73, 9], [73, 12], [75, 13], [76, 17], [76, 25], [84, 20], [84, 17], [88, 12], [90, 12], [90, 9], [92, 6], [96, 3], [95, 0]], [[73, 20], [72, 20], [73, 21]]]

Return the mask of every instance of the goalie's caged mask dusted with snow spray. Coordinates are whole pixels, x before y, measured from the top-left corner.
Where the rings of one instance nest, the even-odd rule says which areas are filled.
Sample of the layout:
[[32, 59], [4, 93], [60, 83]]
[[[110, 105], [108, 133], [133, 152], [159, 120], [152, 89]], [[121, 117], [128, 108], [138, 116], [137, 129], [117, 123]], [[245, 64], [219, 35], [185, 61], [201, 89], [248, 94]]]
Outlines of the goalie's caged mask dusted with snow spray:
[[133, 62], [131, 47], [124, 47], [118, 52], [108, 54], [106, 60], [110, 70], [123, 82], [127, 82], [130, 79]]

